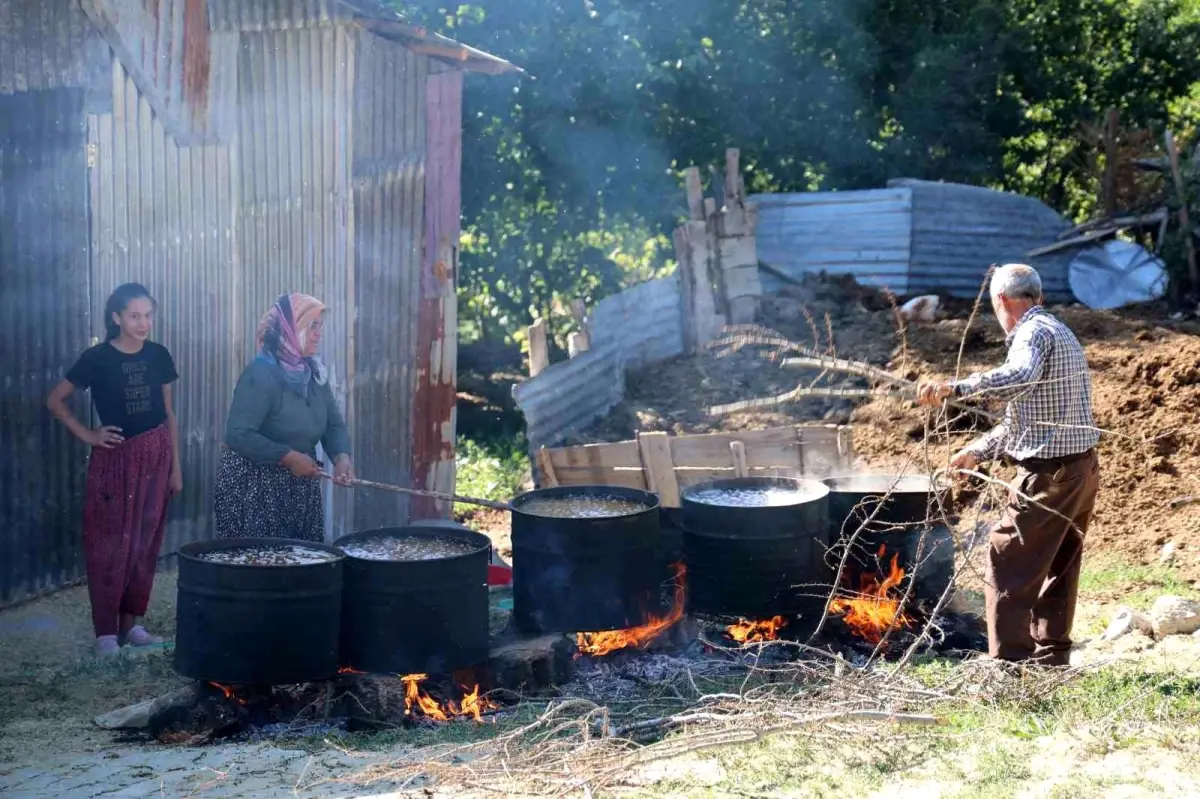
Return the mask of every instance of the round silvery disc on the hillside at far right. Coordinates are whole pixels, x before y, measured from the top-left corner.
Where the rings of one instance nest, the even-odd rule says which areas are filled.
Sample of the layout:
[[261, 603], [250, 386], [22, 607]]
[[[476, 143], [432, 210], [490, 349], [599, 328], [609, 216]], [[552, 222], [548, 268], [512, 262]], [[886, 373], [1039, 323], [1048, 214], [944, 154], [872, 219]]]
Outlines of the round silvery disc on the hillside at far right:
[[1144, 247], [1112, 239], [1075, 256], [1067, 280], [1080, 302], [1105, 311], [1162, 298], [1166, 268]]

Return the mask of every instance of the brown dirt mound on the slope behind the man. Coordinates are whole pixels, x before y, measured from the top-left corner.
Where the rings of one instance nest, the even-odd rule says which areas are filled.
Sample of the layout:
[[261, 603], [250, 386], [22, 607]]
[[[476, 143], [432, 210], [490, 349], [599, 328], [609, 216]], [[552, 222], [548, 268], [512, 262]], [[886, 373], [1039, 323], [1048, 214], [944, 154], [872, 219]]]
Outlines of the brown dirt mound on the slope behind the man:
[[[762, 324], [799, 344], [886, 366], [910, 379], [953, 377], [992, 368], [1004, 359], [1004, 335], [990, 308], [979, 308], [972, 318], [973, 305], [949, 301], [936, 322], [901, 331], [886, 295], [848, 278], [810, 278], [768, 298]], [[1096, 420], [1105, 431], [1098, 446], [1103, 482], [1088, 547], [1151, 563], [1165, 542], [1174, 541], [1177, 564], [1189, 577], [1200, 578], [1200, 504], [1171, 506], [1171, 500], [1200, 495], [1200, 328], [1170, 323], [1165, 310], [1156, 306], [1051, 311], [1085, 347]], [[851, 422], [860, 459], [887, 467], [918, 453], [944, 462], [982, 432], [961, 419], [949, 434], [929, 437], [926, 411], [892, 397], [858, 403], [809, 397], [726, 416], [709, 414], [712, 405], [781, 395], [811, 377], [749, 353], [658, 364], [631, 374], [625, 403], [580, 440], [823, 420]]]

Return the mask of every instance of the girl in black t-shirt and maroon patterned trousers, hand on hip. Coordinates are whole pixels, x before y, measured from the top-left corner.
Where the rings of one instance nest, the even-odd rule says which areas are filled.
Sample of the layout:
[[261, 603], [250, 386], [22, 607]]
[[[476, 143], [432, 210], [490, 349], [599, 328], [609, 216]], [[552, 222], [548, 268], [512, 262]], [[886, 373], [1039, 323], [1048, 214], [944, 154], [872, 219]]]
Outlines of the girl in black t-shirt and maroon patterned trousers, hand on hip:
[[[149, 340], [155, 301], [145, 287], [121, 286], [104, 307], [104, 343], [86, 350], [47, 401], [54, 415], [91, 446], [83, 546], [96, 654], [162, 638], [138, 624], [150, 603], [167, 528], [167, 504], [184, 488], [170, 353]], [[91, 391], [101, 427], [71, 413], [67, 398]]]

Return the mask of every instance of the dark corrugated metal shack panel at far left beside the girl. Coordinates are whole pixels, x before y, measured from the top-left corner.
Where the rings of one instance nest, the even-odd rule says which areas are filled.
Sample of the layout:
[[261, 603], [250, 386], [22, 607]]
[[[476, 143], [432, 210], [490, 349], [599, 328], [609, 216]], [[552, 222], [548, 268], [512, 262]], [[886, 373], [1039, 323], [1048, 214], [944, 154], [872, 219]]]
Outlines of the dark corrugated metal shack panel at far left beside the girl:
[[46, 410], [90, 335], [84, 94], [0, 95], [0, 605], [84, 572], [88, 453]]

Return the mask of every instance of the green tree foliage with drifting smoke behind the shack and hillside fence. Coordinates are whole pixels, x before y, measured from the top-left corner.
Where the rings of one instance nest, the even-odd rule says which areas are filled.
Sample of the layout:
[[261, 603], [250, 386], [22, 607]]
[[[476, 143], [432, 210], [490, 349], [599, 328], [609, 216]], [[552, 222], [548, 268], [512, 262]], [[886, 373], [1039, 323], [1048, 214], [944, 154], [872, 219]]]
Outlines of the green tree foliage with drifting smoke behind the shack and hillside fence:
[[462, 318], [511, 335], [670, 265], [679, 170], [754, 192], [961, 181], [1091, 210], [1079, 127], [1194, 114], [1196, 0], [409, 0], [528, 74], [473, 77]]

